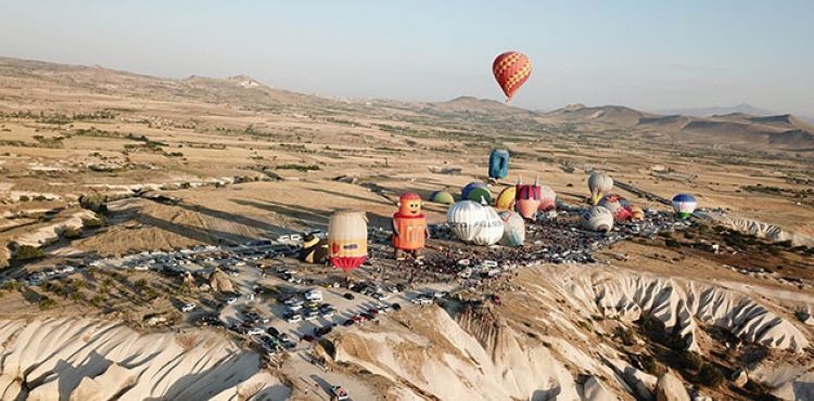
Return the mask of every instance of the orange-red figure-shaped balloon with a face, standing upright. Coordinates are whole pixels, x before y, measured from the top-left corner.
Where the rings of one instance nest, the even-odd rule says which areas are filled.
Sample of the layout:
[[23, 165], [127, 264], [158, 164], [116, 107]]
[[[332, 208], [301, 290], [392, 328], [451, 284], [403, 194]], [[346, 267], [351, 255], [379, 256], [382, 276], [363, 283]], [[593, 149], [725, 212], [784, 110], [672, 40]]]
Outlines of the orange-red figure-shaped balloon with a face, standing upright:
[[393, 215], [393, 248], [397, 260], [410, 253], [418, 258], [430, 232], [427, 217], [421, 212], [421, 196], [407, 192], [398, 198], [398, 211]]

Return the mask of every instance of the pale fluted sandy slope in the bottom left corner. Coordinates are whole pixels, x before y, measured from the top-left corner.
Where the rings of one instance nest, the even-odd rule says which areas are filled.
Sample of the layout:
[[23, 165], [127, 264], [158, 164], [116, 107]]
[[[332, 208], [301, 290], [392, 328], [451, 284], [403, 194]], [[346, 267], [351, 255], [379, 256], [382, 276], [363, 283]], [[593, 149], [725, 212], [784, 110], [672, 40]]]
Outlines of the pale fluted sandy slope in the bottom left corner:
[[142, 335], [116, 323], [58, 319], [0, 324], [0, 399], [281, 399], [259, 357], [206, 332]]

